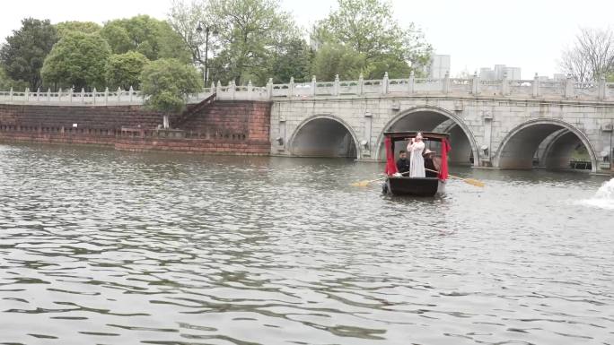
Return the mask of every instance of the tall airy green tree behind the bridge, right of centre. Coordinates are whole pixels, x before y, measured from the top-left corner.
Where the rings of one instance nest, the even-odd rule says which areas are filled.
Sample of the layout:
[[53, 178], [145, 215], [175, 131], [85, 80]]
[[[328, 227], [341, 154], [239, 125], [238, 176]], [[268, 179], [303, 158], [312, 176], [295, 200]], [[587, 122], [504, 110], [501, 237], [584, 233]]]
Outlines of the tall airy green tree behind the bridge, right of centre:
[[311, 39], [343, 44], [363, 55], [365, 78], [382, 78], [387, 66], [390, 78], [407, 77], [412, 68], [421, 73], [432, 47], [414, 23], [402, 28], [393, 18], [390, 3], [382, 0], [338, 0], [338, 9], [316, 24]]

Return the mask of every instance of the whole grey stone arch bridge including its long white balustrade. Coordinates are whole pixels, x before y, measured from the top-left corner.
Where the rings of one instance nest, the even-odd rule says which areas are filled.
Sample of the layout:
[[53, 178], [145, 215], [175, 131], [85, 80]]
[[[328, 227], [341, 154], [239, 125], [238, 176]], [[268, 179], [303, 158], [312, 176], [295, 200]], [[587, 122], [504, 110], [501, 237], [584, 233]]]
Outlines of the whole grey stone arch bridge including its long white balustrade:
[[[494, 168], [568, 168], [585, 149], [591, 169], [612, 169], [614, 83], [408, 79], [296, 83], [264, 87], [212, 84], [189, 102], [266, 100], [270, 153], [281, 156], [382, 160], [390, 130], [451, 134], [456, 164]], [[4, 91], [0, 103], [115, 106], [143, 103], [139, 91]]]

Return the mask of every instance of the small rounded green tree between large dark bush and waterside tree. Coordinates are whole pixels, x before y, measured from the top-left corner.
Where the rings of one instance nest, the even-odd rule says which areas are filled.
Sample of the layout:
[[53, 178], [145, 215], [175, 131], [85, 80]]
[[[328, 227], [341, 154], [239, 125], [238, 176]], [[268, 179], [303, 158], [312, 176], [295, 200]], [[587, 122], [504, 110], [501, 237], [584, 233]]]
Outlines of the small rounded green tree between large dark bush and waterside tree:
[[123, 90], [133, 87], [137, 90], [141, 84], [141, 73], [148, 63], [146, 56], [135, 51], [111, 55], [105, 67], [107, 86]]

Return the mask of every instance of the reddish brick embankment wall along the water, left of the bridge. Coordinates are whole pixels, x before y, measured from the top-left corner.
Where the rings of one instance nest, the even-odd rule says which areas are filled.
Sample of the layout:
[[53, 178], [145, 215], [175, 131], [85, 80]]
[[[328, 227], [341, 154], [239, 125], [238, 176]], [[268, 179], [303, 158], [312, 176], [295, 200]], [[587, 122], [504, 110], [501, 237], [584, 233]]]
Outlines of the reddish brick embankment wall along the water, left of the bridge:
[[[162, 115], [141, 107], [0, 105], [0, 141], [113, 146], [126, 151], [269, 153], [269, 102], [216, 101], [179, 125], [187, 138], [127, 137], [121, 127], [153, 129]], [[78, 124], [73, 128], [73, 124]]]

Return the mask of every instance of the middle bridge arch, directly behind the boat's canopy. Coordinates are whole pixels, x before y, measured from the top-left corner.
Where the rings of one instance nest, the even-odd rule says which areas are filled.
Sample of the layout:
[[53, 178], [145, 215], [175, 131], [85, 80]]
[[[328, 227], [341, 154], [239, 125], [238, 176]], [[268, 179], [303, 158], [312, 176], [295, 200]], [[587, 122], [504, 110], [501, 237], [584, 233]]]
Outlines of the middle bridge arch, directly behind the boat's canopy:
[[[392, 117], [384, 125], [378, 137], [376, 159], [383, 160], [383, 133], [386, 131], [425, 131], [440, 130], [450, 133], [452, 152], [450, 160], [455, 164], [479, 165], [478, 144], [468, 125], [453, 112], [434, 106], [419, 106], [405, 109]], [[473, 158], [470, 163], [469, 159]]]

